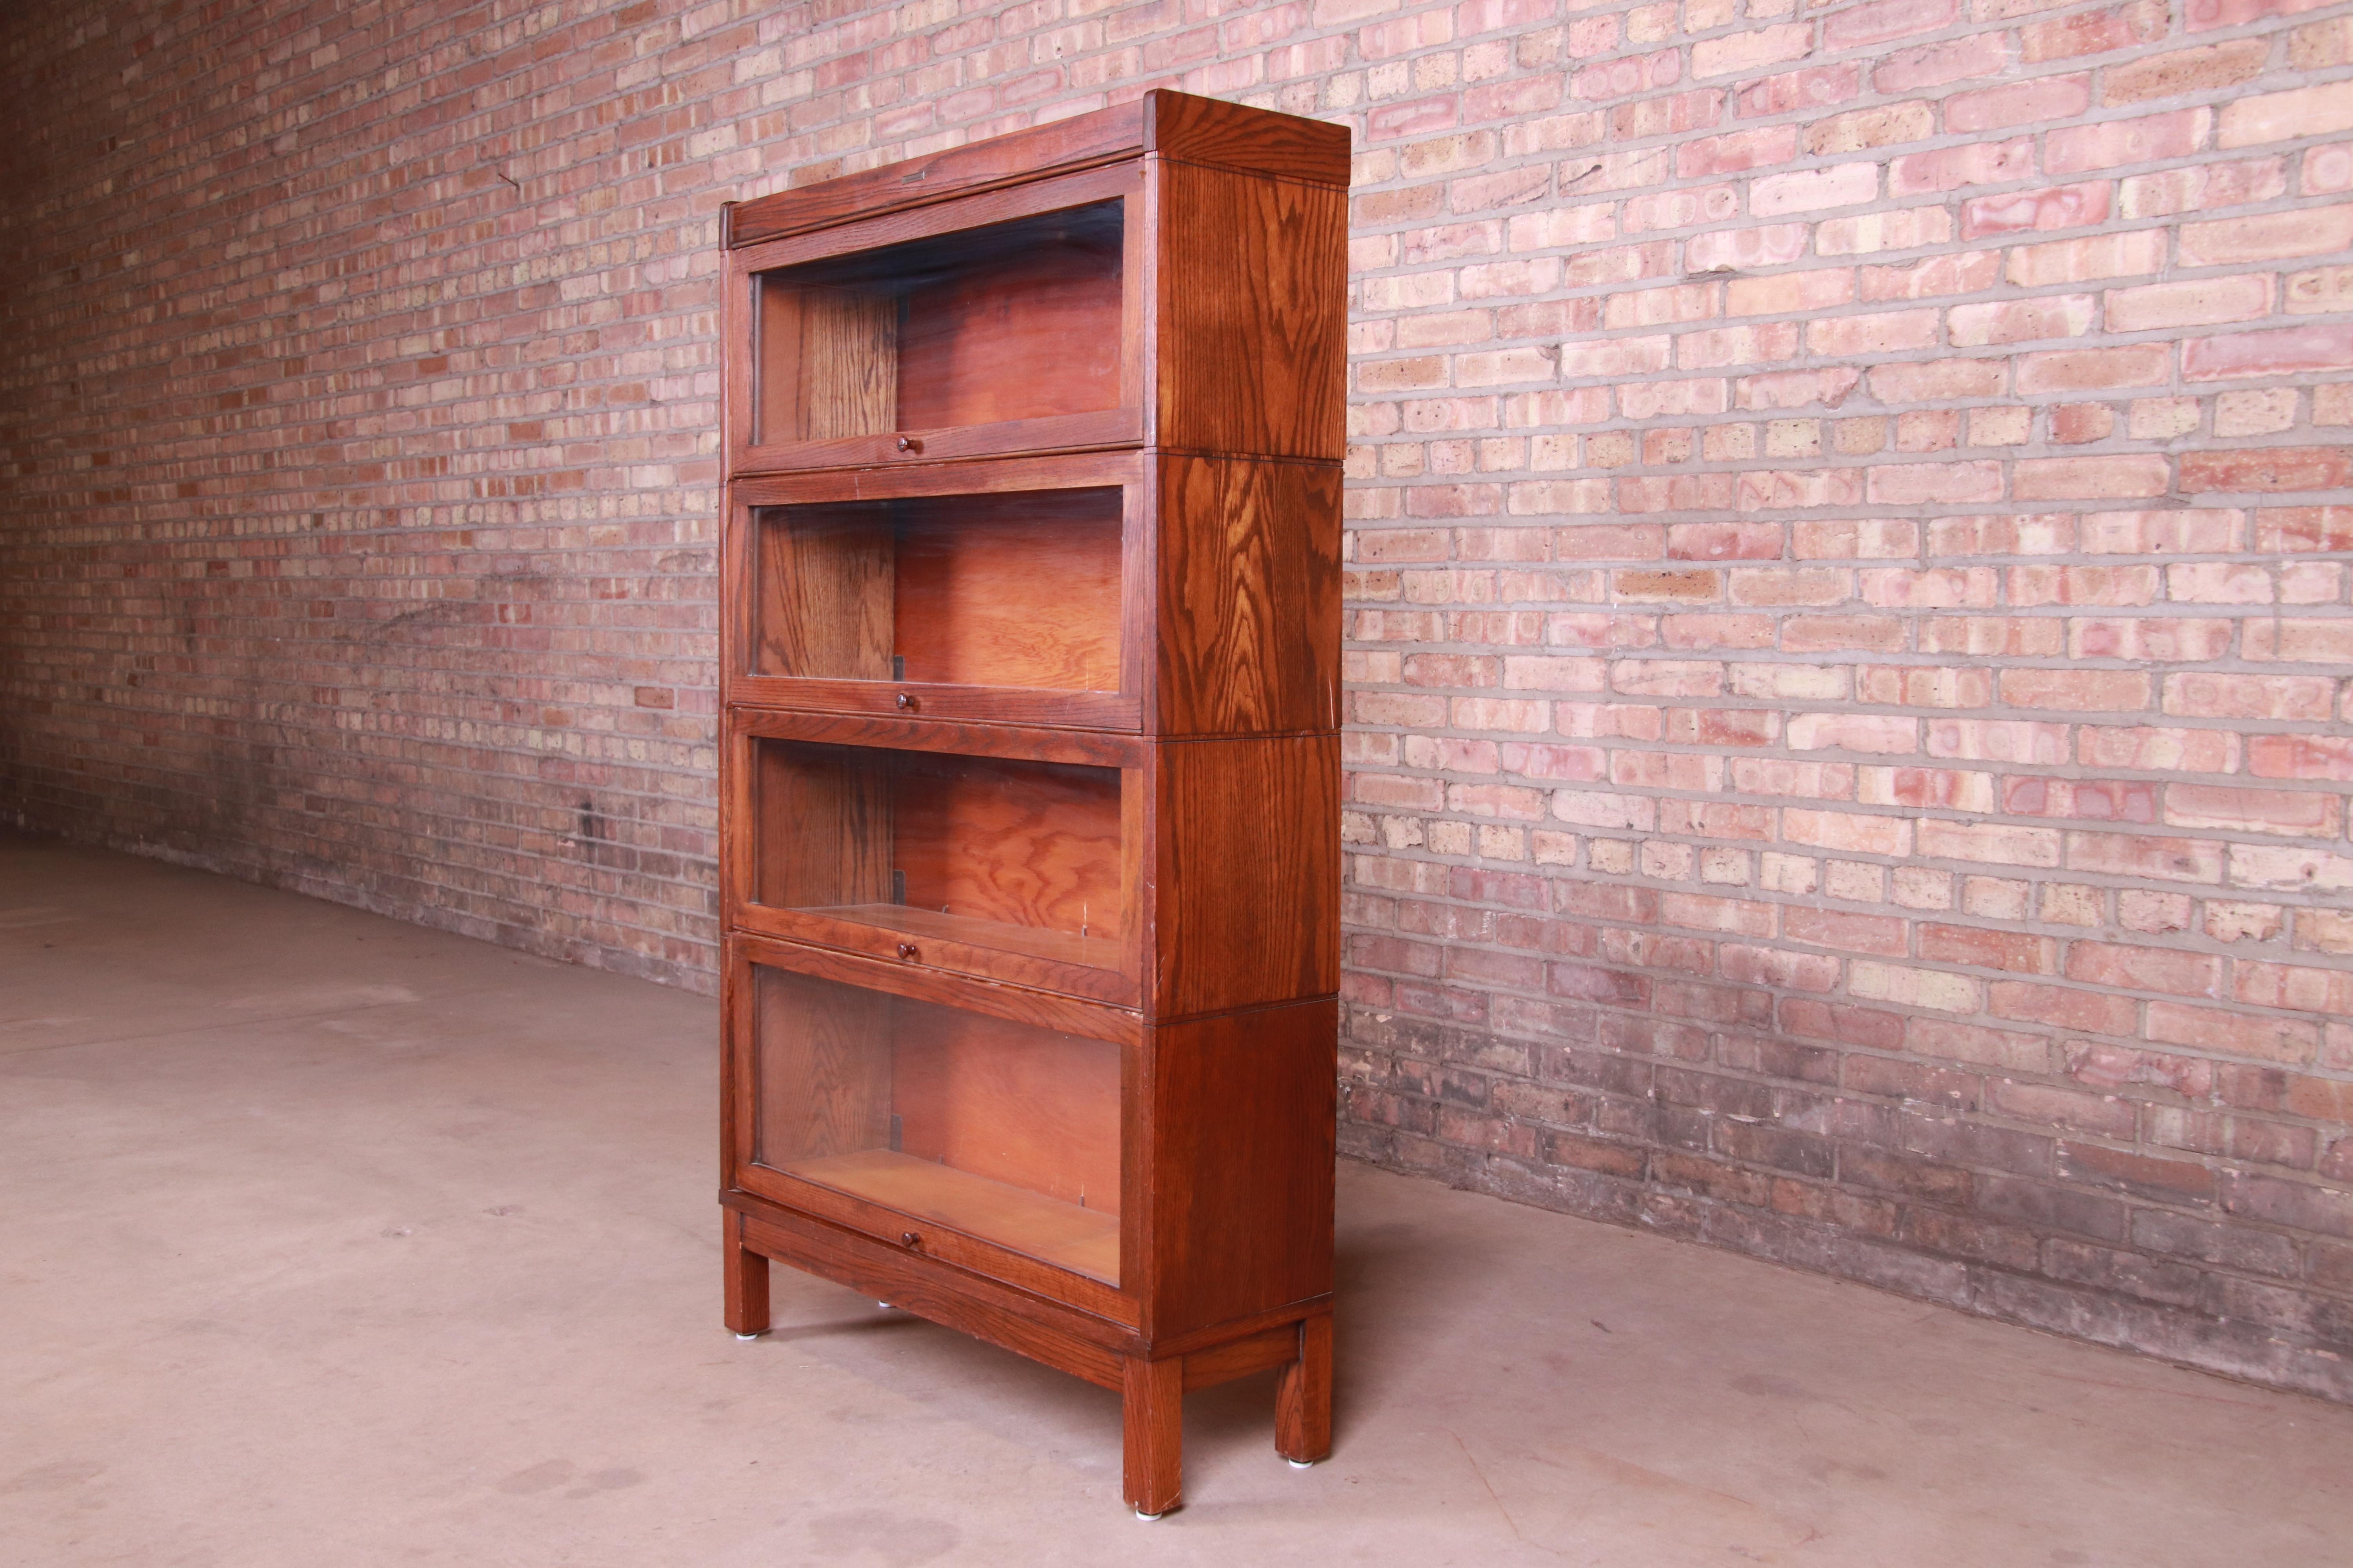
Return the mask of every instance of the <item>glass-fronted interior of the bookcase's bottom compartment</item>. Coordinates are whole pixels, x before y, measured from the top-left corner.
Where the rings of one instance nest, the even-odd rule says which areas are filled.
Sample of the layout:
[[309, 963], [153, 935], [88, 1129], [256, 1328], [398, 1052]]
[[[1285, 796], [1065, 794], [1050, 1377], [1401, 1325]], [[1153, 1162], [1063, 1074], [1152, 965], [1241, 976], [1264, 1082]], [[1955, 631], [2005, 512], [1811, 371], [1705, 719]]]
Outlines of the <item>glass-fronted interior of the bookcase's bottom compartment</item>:
[[1118, 1284], [1120, 1046], [753, 976], [753, 1164]]

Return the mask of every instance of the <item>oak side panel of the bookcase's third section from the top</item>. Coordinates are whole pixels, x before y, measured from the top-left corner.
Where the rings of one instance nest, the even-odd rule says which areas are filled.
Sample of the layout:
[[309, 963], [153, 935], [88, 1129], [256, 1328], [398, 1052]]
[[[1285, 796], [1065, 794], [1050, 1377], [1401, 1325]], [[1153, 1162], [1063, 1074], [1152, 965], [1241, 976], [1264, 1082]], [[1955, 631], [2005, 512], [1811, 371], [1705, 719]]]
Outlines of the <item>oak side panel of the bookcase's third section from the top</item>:
[[1151, 1016], [1339, 990], [1339, 736], [1160, 745]]

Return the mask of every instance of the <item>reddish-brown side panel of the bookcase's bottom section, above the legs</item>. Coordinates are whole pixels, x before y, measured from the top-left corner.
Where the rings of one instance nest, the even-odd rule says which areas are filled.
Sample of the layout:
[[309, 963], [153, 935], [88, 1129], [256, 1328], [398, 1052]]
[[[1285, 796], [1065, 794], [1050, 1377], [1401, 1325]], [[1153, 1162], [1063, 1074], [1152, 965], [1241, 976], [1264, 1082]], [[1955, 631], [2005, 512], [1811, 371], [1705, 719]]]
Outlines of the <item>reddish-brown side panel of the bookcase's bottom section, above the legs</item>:
[[1332, 1291], [1339, 1004], [1153, 1030], [1155, 1342]]

